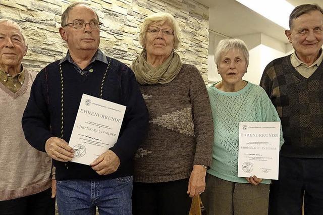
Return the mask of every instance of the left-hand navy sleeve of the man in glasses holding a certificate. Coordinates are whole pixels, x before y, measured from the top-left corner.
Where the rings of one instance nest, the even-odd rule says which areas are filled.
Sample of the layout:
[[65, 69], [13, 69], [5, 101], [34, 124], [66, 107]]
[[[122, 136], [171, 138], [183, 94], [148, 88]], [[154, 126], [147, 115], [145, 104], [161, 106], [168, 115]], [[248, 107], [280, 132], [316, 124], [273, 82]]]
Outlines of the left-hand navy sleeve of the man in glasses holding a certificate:
[[54, 135], [49, 130], [49, 113], [43, 90], [45, 80], [41, 71], [31, 86], [30, 97], [22, 117], [22, 128], [31, 146], [45, 152], [46, 140]]

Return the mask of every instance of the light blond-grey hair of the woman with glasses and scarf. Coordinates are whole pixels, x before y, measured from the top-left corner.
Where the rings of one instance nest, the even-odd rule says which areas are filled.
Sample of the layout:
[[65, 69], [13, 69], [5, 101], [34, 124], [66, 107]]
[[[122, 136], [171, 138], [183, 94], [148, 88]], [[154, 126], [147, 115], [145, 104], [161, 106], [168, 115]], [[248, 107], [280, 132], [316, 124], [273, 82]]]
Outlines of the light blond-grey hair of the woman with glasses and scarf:
[[179, 44], [181, 43], [181, 35], [180, 35], [180, 29], [179, 25], [176, 21], [176, 19], [169, 13], [155, 13], [150, 16], [147, 16], [140, 28], [139, 33], [139, 42], [143, 48], [145, 48], [146, 44], [146, 32], [149, 26], [153, 24], [160, 24], [163, 25], [164, 23], [168, 23], [169, 25], [173, 26], [174, 31], [174, 49], [178, 48]]

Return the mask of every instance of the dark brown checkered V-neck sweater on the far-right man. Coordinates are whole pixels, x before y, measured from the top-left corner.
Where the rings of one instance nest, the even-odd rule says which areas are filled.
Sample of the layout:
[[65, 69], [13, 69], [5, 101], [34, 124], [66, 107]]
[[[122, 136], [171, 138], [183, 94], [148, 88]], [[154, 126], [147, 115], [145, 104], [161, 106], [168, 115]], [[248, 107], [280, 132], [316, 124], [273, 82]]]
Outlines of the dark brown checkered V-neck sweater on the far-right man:
[[272, 100], [282, 121], [286, 157], [323, 158], [323, 63], [305, 78], [291, 56], [269, 63], [260, 86]]

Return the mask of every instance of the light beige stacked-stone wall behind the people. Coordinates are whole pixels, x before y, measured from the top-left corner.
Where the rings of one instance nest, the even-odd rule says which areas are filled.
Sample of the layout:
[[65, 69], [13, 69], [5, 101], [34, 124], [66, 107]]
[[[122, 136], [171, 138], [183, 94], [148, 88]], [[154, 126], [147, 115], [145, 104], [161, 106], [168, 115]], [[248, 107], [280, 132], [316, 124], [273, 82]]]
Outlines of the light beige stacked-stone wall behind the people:
[[[74, 1], [75, 2], [75, 1]], [[175, 16], [182, 34], [177, 52], [184, 63], [195, 65], [207, 81], [208, 8], [193, 0], [92, 0], [83, 1], [94, 8], [103, 23], [100, 49], [127, 65], [141, 52], [139, 30], [143, 19], [165, 11]], [[0, 18], [18, 22], [28, 38], [23, 64], [29, 70], [44, 66], [66, 55], [61, 39], [62, 12], [71, 1], [0, 0]]]

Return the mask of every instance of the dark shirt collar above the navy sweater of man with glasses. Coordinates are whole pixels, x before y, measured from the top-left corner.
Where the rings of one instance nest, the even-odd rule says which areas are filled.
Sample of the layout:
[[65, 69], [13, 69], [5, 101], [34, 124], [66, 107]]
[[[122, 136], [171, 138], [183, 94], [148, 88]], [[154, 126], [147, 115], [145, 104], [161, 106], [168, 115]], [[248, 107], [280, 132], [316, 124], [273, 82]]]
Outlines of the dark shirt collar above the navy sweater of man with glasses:
[[68, 61], [71, 64], [73, 64], [74, 68], [76, 69], [77, 72], [79, 72], [81, 75], [85, 75], [89, 72], [94, 72], [92, 69], [92, 63], [94, 61], [101, 61], [105, 64], [107, 64], [107, 60], [106, 57], [104, 55], [104, 53], [100, 50], [97, 49], [97, 51], [95, 52], [93, 58], [91, 59], [89, 65], [87, 65], [87, 67], [85, 67], [83, 70], [73, 61], [71, 55], [70, 55], [70, 51], [67, 51], [65, 58], [63, 58], [59, 64], [62, 64], [63, 62]]

